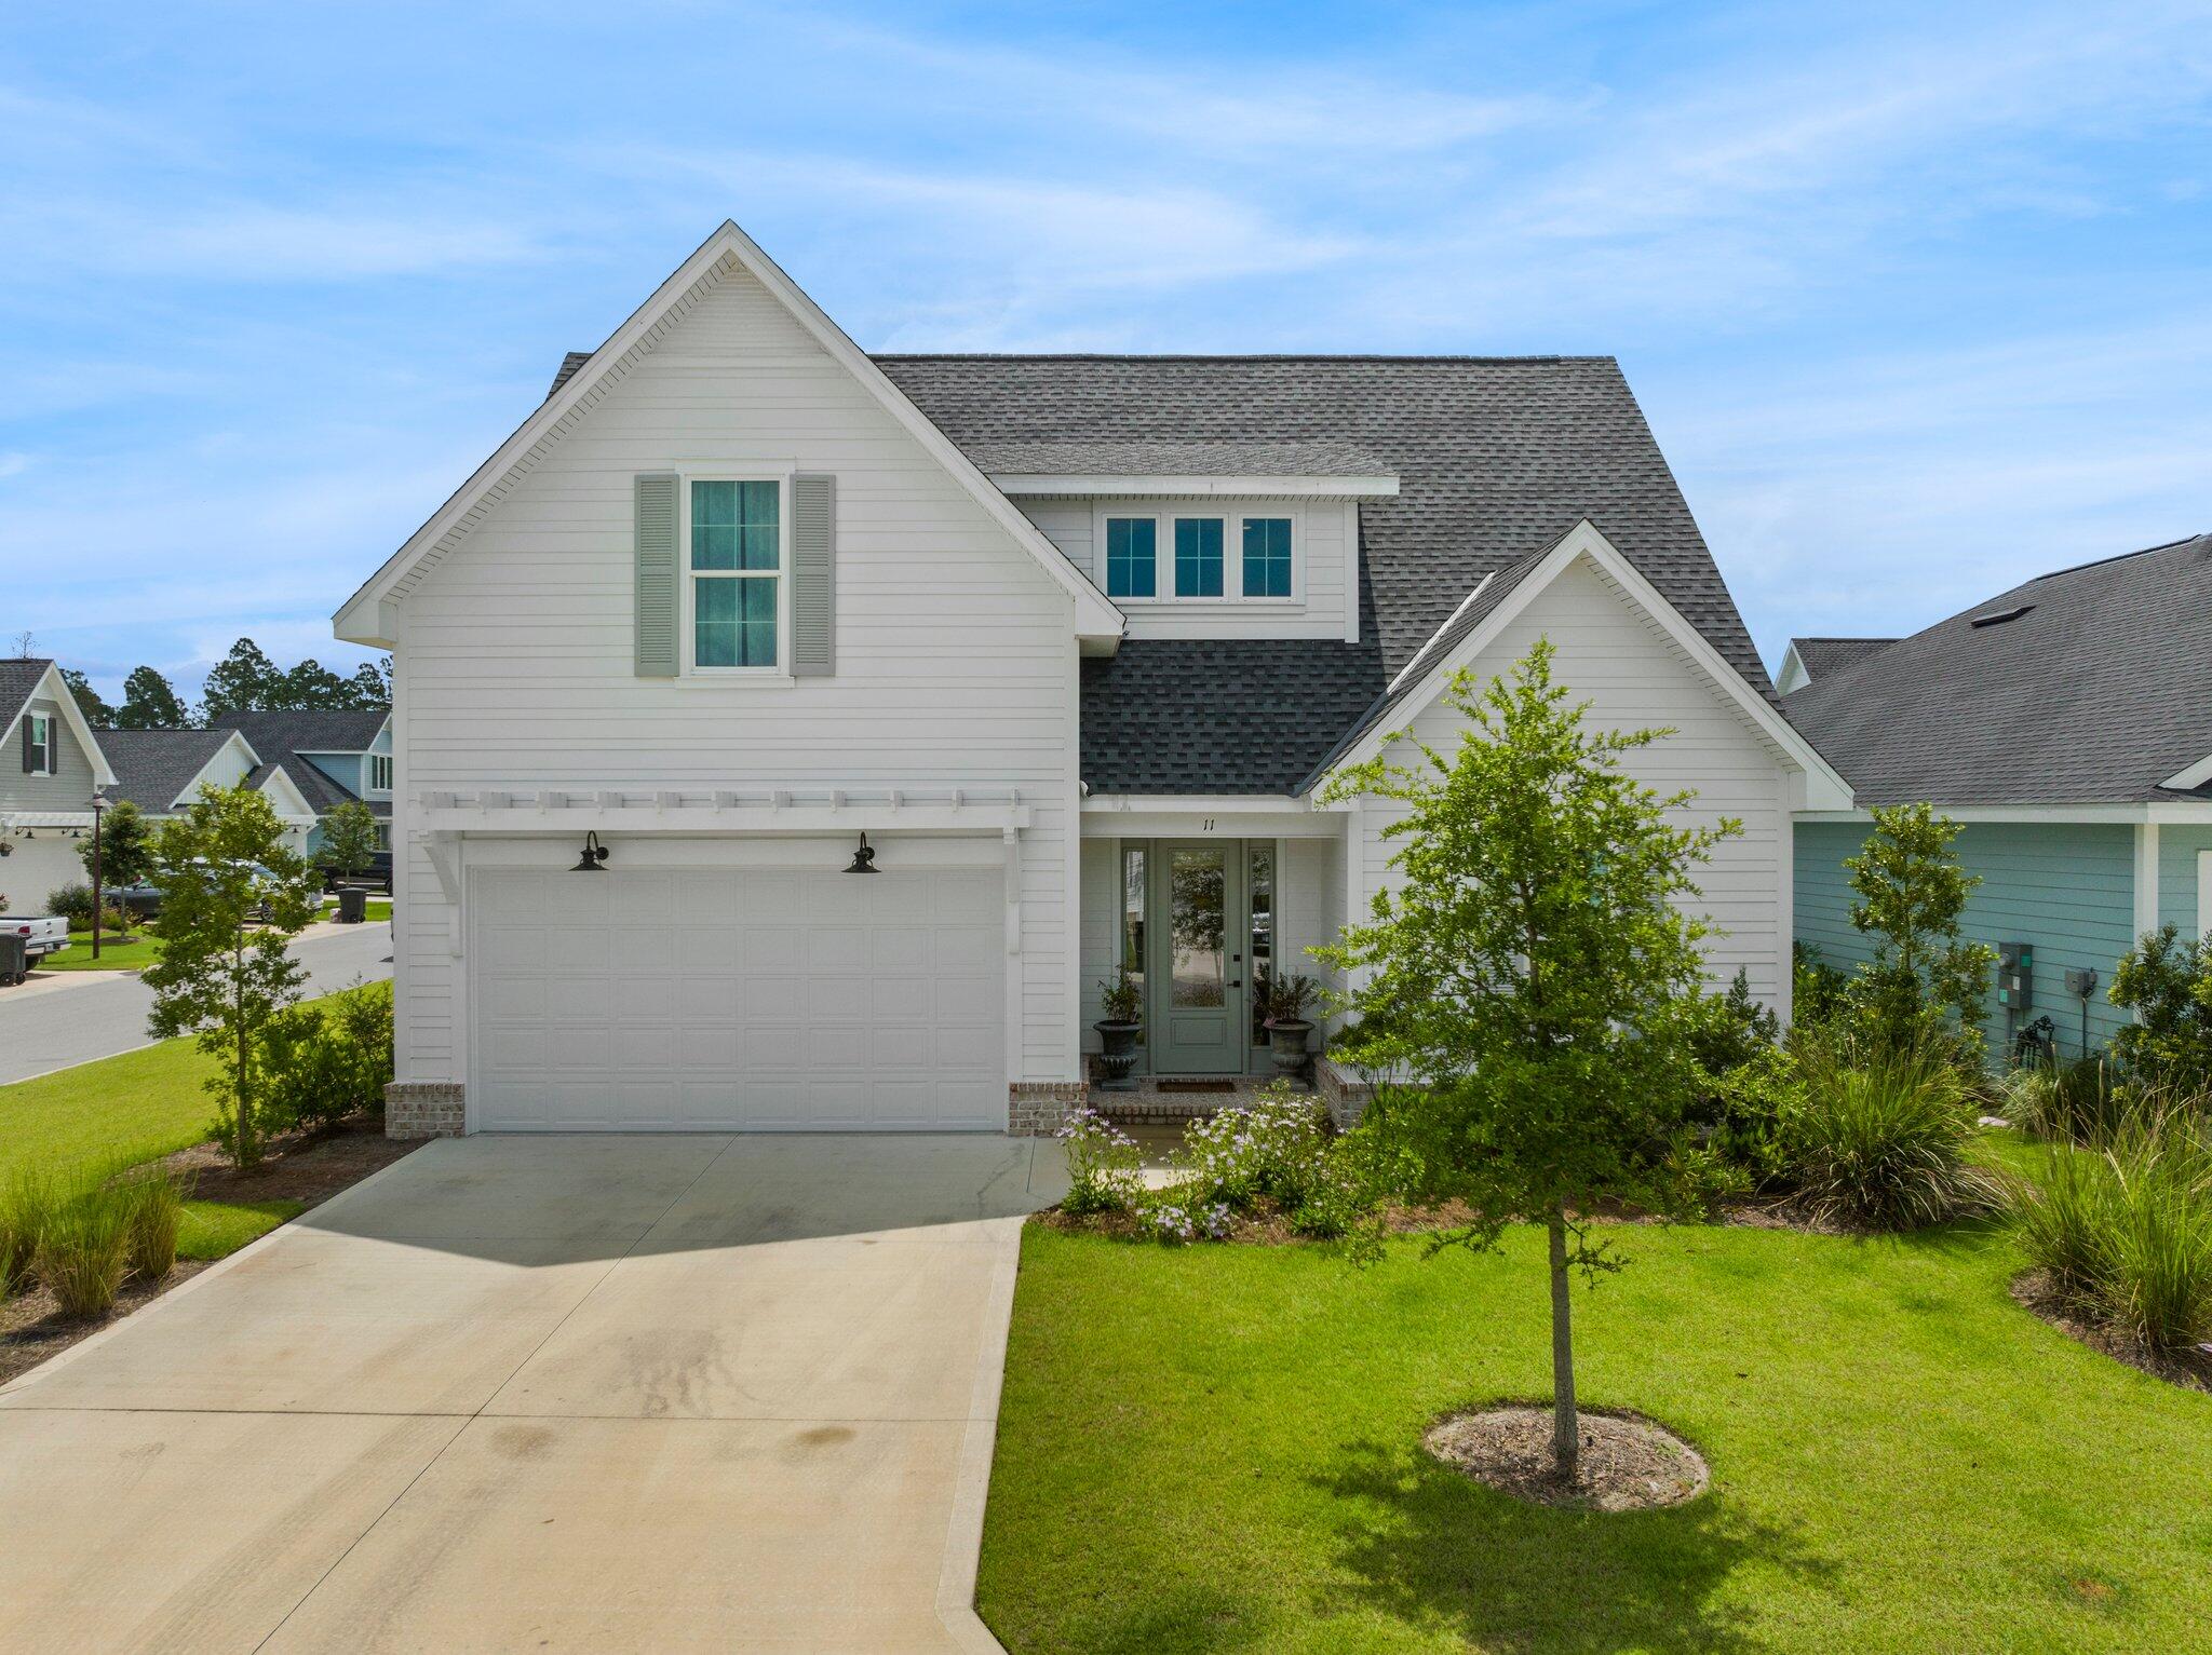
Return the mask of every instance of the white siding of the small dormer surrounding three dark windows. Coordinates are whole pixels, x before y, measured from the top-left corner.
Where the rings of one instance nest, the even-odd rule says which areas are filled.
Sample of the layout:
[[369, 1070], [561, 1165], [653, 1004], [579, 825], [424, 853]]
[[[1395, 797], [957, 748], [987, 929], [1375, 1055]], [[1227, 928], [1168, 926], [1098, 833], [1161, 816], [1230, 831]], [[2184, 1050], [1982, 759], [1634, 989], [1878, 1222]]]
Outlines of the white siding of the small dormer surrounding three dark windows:
[[1128, 616], [1133, 639], [1343, 639], [1358, 605], [1354, 550], [1358, 506], [1343, 499], [1018, 499], [1022, 515], [1068, 561], [1106, 590], [1106, 517], [1159, 519], [1159, 592], [1175, 590], [1175, 519], [1221, 517], [1223, 590], [1241, 581], [1243, 517], [1292, 519], [1294, 601], [1113, 599]]

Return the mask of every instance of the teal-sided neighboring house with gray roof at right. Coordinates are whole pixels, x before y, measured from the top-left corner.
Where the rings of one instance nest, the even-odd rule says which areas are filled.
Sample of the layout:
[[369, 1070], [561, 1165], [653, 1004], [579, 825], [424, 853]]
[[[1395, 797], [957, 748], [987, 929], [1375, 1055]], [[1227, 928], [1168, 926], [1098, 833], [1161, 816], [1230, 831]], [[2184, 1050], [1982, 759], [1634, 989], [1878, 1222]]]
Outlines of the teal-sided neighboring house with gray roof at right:
[[[2212, 535], [2044, 574], [1909, 639], [1798, 639], [1776, 676], [1860, 807], [1794, 829], [1796, 937], [1829, 963], [1867, 957], [1843, 871], [1865, 807], [1911, 800], [1966, 824], [1969, 935], [2033, 948], [2031, 1003], [1991, 997], [1993, 1052], [2039, 1016], [2064, 1056], [2084, 1032], [2104, 1045], [2135, 939], [2212, 928]], [[2097, 977], [2084, 994], [2068, 972]]]

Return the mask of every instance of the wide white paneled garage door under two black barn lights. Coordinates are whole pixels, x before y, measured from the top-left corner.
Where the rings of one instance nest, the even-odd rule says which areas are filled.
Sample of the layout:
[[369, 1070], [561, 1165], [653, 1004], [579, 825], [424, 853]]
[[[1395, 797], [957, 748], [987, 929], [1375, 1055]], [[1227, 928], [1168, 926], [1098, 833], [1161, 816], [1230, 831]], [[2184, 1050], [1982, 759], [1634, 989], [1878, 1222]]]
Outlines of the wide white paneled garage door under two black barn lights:
[[1006, 1127], [1002, 875], [471, 871], [480, 1131]]

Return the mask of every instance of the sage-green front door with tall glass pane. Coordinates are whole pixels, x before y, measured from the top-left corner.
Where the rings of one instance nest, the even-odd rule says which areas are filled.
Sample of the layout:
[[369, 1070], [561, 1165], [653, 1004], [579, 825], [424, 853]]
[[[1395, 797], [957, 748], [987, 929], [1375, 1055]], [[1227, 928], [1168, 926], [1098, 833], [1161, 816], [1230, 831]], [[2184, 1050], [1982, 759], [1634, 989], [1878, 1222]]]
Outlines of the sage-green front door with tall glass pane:
[[1152, 895], [1152, 1074], [1243, 1074], [1252, 921], [1243, 840], [1168, 840]]

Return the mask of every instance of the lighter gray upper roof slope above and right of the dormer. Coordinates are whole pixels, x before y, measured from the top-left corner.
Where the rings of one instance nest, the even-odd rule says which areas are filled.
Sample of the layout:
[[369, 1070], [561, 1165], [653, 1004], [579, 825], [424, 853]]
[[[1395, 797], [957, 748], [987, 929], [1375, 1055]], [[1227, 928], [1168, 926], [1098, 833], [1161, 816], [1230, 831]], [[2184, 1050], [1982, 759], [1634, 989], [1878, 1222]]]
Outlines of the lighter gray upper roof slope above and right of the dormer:
[[[1383, 667], [1491, 570], [1588, 517], [1761, 692], [1767, 672], [1610, 356], [878, 356], [962, 451], [1013, 442], [1347, 444]], [[1093, 780], [1095, 784], [1095, 780]]]

